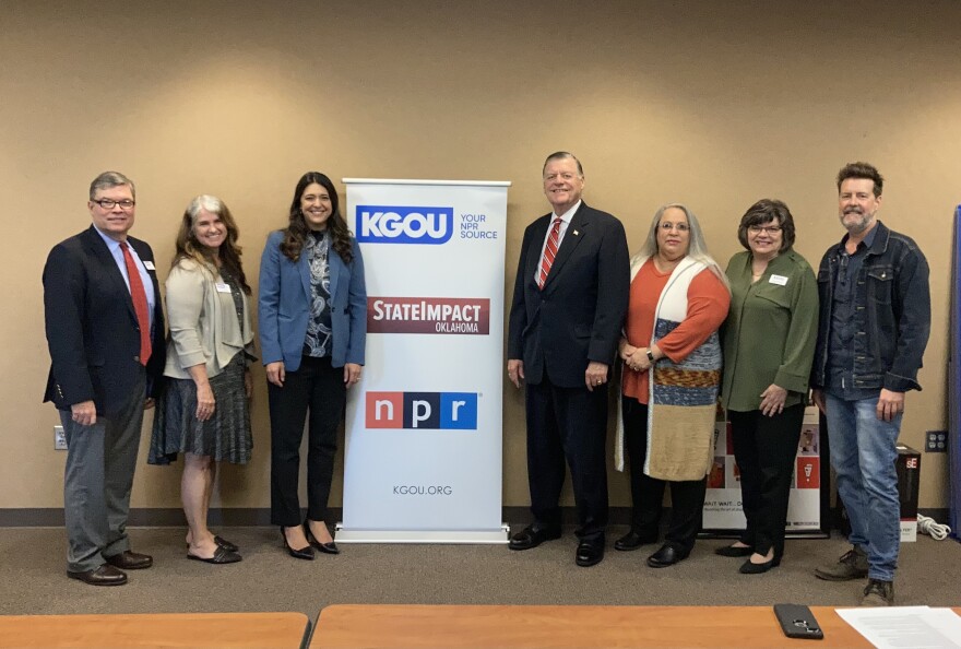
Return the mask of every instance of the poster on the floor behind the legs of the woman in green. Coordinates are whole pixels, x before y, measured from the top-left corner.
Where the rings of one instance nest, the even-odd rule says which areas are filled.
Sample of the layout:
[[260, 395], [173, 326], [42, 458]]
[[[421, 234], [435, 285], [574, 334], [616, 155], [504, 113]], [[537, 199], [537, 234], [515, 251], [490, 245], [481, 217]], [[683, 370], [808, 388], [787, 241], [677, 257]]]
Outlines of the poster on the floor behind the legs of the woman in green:
[[[830, 520], [828, 494], [830, 469], [827, 449], [822, 448], [818, 409], [809, 406], [804, 413], [794, 472], [791, 476], [791, 496], [787, 500], [788, 535], [828, 535]], [[823, 487], [823, 488], [822, 488]], [[731, 423], [714, 424], [714, 461], [708, 474], [704, 498], [703, 533], [733, 535], [745, 529], [746, 521], [740, 499], [740, 471], [734, 459]]]

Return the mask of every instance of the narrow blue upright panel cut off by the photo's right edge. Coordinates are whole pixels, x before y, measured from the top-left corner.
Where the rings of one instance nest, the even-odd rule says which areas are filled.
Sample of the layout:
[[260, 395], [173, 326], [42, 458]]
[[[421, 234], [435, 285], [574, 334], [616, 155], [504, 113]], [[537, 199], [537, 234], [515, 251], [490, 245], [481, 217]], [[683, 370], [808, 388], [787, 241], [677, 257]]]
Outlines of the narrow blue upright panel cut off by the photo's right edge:
[[951, 250], [951, 334], [948, 351], [948, 460], [950, 472], [951, 536], [961, 541], [961, 205], [954, 210], [954, 246]]

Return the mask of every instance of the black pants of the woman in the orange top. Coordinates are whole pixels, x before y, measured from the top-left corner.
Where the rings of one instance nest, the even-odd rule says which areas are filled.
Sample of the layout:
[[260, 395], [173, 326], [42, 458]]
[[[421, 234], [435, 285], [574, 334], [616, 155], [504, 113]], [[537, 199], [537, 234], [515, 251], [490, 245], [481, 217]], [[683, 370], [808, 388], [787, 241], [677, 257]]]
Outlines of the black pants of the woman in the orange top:
[[632, 397], [622, 397], [621, 408], [633, 500], [631, 529], [645, 539], [657, 539], [664, 489], [671, 485], [671, 520], [664, 541], [684, 555], [690, 554], [701, 531], [708, 476], [701, 480], [665, 481], [645, 475], [648, 406]]

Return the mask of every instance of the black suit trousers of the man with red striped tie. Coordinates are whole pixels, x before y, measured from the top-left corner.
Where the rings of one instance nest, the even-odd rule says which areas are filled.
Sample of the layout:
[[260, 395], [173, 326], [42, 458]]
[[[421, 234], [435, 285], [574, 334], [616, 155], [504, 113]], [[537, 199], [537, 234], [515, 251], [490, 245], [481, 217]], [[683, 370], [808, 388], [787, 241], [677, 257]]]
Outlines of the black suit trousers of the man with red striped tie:
[[570, 467], [580, 528], [577, 535], [604, 542], [607, 527], [607, 384], [559, 388], [546, 373], [527, 384], [527, 481], [534, 520], [560, 528], [560, 491], [565, 459]]

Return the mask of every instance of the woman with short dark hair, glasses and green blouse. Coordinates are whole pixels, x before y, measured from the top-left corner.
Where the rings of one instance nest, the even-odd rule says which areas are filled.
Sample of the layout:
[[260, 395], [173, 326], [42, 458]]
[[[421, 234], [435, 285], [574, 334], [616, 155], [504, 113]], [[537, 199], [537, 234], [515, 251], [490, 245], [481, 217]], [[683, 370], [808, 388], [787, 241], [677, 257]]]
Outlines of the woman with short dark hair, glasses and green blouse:
[[784, 554], [787, 497], [818, 330], [817, 281], [794, 251], [794, 219], [760, 200], [740, 220], [747, 249], [731, 258], [724, 322], [722, 403], [727, 411], [747, 529], [723, 556], [748, 557], [740, 571], [767, 573]]

